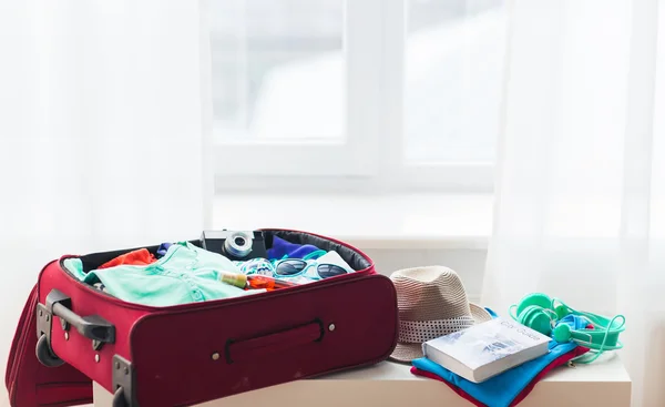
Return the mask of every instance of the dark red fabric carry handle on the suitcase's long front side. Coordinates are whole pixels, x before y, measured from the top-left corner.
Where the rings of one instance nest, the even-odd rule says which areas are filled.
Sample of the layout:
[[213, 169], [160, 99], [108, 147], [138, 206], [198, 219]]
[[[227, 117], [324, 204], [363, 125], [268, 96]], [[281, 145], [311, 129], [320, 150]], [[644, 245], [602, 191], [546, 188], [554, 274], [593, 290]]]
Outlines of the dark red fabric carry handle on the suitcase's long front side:
[[313, 342], [319, 342], [324, 337], [324, 324], [319, 319], [248, 339], [226, 343], [226, 362], [245, 362], [262, 358], [264, 356], [285, 352]]

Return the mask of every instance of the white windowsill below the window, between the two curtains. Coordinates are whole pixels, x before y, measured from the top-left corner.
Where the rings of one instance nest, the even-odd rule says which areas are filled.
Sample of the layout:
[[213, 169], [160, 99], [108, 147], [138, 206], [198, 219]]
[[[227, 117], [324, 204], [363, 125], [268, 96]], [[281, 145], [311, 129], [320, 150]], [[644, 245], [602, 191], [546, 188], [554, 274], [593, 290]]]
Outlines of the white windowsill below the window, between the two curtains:
[[213, 227], [283, 227], [313, 232], [359, 248], [484, 250], [492, 195], [219, 194]]

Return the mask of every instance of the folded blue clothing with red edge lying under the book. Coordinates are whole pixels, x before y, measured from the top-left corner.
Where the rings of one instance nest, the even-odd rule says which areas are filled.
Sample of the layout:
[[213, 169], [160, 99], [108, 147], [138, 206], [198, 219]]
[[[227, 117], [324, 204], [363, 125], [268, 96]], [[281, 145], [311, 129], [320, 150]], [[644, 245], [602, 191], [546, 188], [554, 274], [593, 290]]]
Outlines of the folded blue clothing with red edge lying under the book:
[[483, 383], [471, 383], [427, 358], [415, 359], [411, 373], [446, 383], [475, 406], [511, 407], [522, 401], [548, 372], [589, 352], [587, 348], [577, 346], [573, 342], [559, 344], [551, 340], [549, 347], [550, 353]]

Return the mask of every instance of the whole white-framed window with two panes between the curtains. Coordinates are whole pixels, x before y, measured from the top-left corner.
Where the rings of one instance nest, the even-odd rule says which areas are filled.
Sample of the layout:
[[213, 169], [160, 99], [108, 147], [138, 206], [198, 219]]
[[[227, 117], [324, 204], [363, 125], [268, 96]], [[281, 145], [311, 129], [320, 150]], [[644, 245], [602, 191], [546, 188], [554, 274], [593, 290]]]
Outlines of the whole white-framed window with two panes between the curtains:
[[491, 185], [502, 0], [208, 0], [217, 187]]

